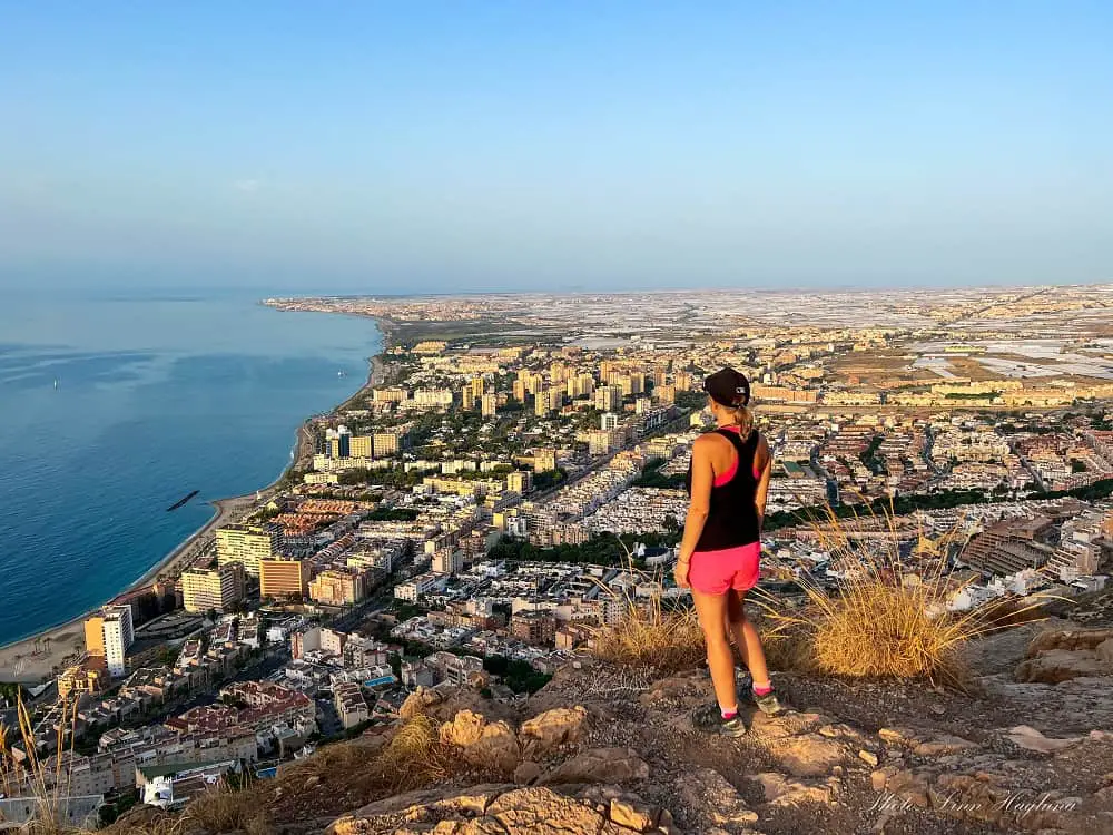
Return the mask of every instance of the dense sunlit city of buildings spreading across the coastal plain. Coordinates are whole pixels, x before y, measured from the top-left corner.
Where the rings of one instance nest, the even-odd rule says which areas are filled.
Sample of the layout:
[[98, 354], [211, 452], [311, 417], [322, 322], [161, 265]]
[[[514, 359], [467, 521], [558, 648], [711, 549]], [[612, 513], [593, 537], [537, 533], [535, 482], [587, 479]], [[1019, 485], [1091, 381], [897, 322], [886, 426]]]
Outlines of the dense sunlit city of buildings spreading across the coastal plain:
[[774, 452], [766, 592], [838, 578], [833, 537], [944, 568], [954, 611], [1109, 579], [1113, 286], [265, 304], [374, 317], [387, 347], [280, 482], [26, 682], [73, 797], [180, 806], [390, 728], [418, 687], [513, 703], [632, 609], [687, 606], [683, 480], [725, 365]]

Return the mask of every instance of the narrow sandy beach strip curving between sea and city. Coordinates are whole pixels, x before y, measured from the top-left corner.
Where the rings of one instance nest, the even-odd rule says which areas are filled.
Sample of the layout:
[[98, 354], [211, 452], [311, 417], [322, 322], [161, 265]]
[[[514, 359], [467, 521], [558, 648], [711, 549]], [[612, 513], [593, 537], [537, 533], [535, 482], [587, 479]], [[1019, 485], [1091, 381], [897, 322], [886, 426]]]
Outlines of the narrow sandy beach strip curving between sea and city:
[[[387, 323], [376, 316], [371, 316], [370, 318], [374, 320], [375, 326], [382, 335], [382, 348], [380, 353], [368, 357], [366, 381], [351, 396], [339, 404], [334, 405], [324, 414], [342, 411], [353, 401], [385, 380], [388, 367], [385, 354], [391, 346], [392, 323]], [[257, 491], [260, 502], [269, 500], [270, 494], [282, 484], [289, 472], [306, 462], [306, 455], [312, 458], [313, 450], [309, 445], [312, 436], [306, 431], [308, 423], [309, 420], [303, 421], [295, 433], [294, 461], [283, 468], [278, 478], [266, 487], [259, 488]], [[208, 543], [217, 528], [223, 528], [235, 519], [242, 518], [249, 508], [255, 505], [255, 497], [256, 493], [252, 492], [245, 495], [234, 495], [209, 501], [208, 503], [213, 505], [214, 512], [205, 524], [186, 537], [174, 550], [144, 572], [141, 577], [124, 589], [120, 589], [117, 595], [106, 600], [101, 606], [90, 609], [76, 618], [71, 618], [63, 623], [47, 627], [33, 635], [0, 646], [0, 682], [18, 681], [24, 685], [37, 684], [53, 676], [56, 667], [65, 668], [77, 664], [79, 657], [83, 655], [85, 649], [85, 630], [82, 623], [86, 618], [120, 596], [150, 586], [160, 574], [180, 573], [196, 558], [204, 546]]]

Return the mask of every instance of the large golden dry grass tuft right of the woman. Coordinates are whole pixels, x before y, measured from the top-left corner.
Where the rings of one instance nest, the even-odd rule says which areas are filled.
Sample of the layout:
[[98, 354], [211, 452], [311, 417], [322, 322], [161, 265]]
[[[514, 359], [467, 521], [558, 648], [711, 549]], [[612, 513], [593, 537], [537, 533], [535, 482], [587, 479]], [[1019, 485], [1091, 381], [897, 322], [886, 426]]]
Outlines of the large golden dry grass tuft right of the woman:
[[[850, 527], [828, 509], [827, 519], [812, 523], [823, 550], [839, 572], [834, 589], [808, 578], [802, 609], [757, 592], [770, 629], [767, 650], [781, 669], [877, 678], [928, 678], [966, 689], [968, 670], [963, 647], [974, 638], [998, 631], [1032, 616], [1043, 599], [1003, 607], [992, 603], [963, 612], [946, 605], [964, 582], [954, 577], [945, 554], [957, 544], [952, 532], [932, 543], [942, 551], [933, 568], [905, 561], [896, 544], [896, 524], [886, 514], [892, 539], [856, 543]], [[923, 532], [916, 551], [926, 548]], [[942, 546], [942, 547], [940, 547]], [[1008, 617], [1003, 617], [1007, 612]]]

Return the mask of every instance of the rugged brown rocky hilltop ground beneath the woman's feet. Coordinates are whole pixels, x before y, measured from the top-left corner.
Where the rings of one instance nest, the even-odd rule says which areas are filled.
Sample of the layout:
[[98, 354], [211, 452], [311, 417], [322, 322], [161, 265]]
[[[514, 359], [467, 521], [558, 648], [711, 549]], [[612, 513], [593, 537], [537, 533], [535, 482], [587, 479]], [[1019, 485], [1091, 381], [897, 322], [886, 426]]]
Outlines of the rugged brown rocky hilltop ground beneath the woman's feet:
[[[751, 708], [741, 739], [692, 727], [710, 698], [701, 670], [585, 659], [519, 704], [420, 689], [401, 730], [324, 748], [225, 795], [219, 814], [187, 808], [175, 824], [197, 835], [1113, 833], [1109, 608], [972, 646], [969, 692], [779, 674], [795, 709]], [[398, 748], [415, 729], [425, 741]], [[117, 827], [158, 831], [160, 814]]]

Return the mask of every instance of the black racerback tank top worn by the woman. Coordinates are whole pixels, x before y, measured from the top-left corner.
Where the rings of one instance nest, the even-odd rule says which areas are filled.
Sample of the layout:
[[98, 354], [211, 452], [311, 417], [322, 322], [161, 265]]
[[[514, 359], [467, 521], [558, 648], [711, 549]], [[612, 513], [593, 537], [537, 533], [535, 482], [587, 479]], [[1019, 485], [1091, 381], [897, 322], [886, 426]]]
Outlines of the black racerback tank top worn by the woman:
[[[755, 430], [745, 441], [738, 432], [729, 429], [717, 429], [716, 432], [728, 441], [738, 453], [738, 466], [733, 478], [721, 487], [711, 485], [711, 501], [707, 522], [697, 551], [721, 551], [726, 548], [738, 548], [761, 540], [761, 522], [758, 519], [756, 503], [758, 479], [754, 477], [754, 462], [757, 458], [760, 435]], [[692, 469], [688, 465], [688, 492], [692, 489]]]

